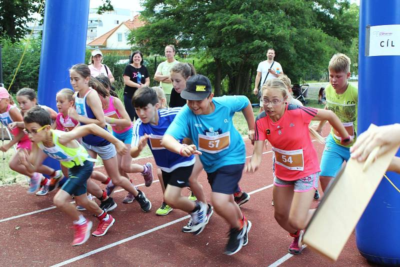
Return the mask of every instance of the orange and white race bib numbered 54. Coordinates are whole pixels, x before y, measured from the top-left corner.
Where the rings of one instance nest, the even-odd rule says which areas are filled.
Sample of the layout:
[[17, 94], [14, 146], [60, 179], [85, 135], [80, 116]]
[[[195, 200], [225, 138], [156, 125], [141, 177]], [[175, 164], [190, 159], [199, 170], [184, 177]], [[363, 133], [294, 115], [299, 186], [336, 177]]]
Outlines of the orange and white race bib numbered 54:
[[276, 164], [290, 170], [304, 170], [303, 149], [282, 150], [273, 148]]

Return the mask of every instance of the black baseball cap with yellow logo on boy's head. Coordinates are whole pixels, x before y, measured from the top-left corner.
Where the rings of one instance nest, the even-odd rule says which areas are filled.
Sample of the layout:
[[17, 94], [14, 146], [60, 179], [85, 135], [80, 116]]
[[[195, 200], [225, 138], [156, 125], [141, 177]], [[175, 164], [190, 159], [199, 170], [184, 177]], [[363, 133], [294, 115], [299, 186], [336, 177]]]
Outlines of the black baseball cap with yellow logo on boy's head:
[[191, 76], [186, 81], [186, 88], [180, 93], [180, 96], [187, 100], [202, 100], [207, 98], [212, 92], [211, 82], [209, 79], [200, 74]]

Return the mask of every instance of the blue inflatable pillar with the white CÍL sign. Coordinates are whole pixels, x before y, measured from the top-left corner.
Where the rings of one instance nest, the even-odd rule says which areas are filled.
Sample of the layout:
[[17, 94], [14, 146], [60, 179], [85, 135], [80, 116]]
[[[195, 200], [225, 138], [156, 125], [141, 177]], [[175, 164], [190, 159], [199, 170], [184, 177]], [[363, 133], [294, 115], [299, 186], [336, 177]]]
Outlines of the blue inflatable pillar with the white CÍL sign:
[[[358, 132], [400, 122], [400, 1], [361, 1], [358, 56]], [[400, 175], [387, 175], [400, 185]], [[399, 266], [399, 225], [400, 193], [383, 178], [355, 228], [358, 250], [369, 261]]]

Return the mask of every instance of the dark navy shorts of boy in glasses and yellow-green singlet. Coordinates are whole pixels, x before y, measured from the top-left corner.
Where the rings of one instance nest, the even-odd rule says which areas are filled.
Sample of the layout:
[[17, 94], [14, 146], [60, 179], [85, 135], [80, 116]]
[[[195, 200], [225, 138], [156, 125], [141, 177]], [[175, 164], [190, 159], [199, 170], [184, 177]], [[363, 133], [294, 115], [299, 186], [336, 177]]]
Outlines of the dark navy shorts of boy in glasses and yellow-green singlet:
[[70, 195], [86, 193], [86, 182], [93, 171], [93, 162], [85, 160], [83, 166], [76, 165], [68, 169], [68, 179], [62, 184], [61, 189]]

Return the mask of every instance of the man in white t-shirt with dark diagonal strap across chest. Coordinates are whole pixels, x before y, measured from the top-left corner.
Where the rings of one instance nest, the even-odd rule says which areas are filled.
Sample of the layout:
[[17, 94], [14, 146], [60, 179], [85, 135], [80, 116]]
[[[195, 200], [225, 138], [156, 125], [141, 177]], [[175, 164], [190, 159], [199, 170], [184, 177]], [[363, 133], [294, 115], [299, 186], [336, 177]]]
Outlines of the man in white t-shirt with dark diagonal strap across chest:
[[[253, 90], [255, 95], [258, 94], [259, 89], [261, 89], [261, 86], [266, 80], [277, 78], [279, 75], [283, 74], [282, 66], [279, 64], [279, 62], [273, 61], [273, 58], [275, 57], [275, 50], [273, 48], [268, 48], [266, 51], [266, 57], [267, 59], [259, 62], [257, 67], [257, 75], [255, 76]], [[259, 84], [260, 80], [261, 83]], [[258, 94], [258, 96], [260, 96], [260, 94]]]

